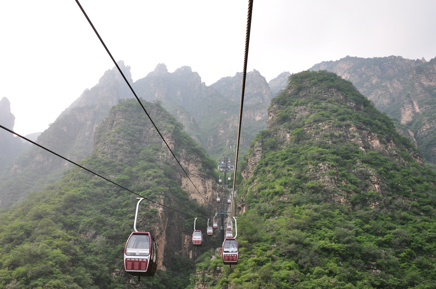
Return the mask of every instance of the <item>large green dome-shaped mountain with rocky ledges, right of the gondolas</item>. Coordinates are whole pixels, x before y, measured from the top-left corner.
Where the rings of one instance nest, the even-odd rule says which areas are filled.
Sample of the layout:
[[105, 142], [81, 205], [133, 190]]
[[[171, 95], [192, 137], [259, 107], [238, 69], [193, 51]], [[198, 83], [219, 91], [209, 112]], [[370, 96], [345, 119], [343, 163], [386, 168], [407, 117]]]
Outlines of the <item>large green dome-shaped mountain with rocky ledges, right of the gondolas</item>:
[[436, 288], [436, 174], [388, 116], [304, 71], [269, 118], [242, 168], [240, 262], [205, 253], [191, 288]]

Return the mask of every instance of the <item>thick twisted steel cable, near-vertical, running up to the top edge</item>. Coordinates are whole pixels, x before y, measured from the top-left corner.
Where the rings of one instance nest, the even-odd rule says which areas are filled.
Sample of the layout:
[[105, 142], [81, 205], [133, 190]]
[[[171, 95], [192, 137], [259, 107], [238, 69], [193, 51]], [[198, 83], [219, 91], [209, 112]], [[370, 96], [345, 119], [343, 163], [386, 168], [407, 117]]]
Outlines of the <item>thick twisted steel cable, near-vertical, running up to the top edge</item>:
[[248, 1], [248, 15], [247, 15], [247, 32], [245, 34], [244, 71], [242, 73], [241, 105], [239, 106], [238, 140], [236, 142], [235, 175], [233, 175], [232, 207], [230, 209], [230, 218], [232, 217], [232, 213], [233, 213], [233, 198], [235, 197], [236, 169], [238, 167], [239, 138], [241, 137], [242, 108], [244, 107], [245, 80], [247, 78], [248, 47], [250, 44], [250, 30], [251, 30], [252, 13], [253, 13], [253, 0], [249, 0]]

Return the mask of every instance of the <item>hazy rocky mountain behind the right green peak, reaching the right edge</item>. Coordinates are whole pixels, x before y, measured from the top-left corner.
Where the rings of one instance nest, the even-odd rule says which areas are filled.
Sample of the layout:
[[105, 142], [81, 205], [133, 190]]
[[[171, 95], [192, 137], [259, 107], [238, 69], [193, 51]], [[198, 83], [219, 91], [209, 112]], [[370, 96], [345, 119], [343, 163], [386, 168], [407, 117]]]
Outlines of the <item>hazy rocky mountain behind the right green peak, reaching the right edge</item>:
[[314, 65], [350, 80], [375, 106], [396, 119], [399, 131], [416, 141], [427, 161], [436, 163], [433, 138], [436, 62], [403, 57], [345, 57]]

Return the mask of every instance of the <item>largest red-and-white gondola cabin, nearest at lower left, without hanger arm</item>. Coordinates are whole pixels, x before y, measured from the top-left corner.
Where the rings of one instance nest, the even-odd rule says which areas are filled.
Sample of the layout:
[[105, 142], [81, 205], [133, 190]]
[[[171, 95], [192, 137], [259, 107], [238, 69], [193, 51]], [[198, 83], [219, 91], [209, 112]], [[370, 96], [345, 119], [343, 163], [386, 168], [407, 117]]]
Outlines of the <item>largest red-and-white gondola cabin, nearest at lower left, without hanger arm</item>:
[[157, 243], [149, 232], [133, 232], [124, 248], [124, 270], [133, 276], [154, 276]]

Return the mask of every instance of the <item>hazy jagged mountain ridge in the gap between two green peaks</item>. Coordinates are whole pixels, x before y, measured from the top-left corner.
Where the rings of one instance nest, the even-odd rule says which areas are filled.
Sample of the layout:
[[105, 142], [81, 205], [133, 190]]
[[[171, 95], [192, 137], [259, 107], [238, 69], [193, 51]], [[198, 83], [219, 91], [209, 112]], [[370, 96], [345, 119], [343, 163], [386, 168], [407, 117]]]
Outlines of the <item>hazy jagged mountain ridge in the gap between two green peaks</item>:
[[[191, 67], [169, 73], [165, 64], [136, 81], [133, 87], [147, 101], [159, 100], [184, 124], [185, 130], [209, 154], [219, 158], [236, 144], [238, 108], [242, 74], [224, 77], [211, 86], [201, 82]], [[242, 149], [246, 149], [256, 131], [265, 128], [266, 110], [271, 99], [268, 83], [259, 71], [247, 74]], [[235, 127], [236, 125], [236, 127]]]

